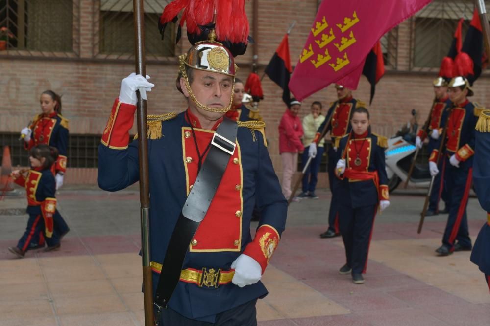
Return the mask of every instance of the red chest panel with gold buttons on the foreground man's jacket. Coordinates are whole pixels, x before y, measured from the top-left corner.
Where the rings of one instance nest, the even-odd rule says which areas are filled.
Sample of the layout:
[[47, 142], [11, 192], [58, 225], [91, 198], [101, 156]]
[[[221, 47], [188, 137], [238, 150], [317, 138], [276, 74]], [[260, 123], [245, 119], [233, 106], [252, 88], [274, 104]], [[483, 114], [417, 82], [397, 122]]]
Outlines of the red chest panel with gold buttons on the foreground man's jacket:
[[[206, 149], [214, 131], [194, 129], [199, 152]], [[187, 195], [196, 181], [199, 157], [190, 127], [182, 127], [183, 160]], [[203, 158], [203, 162], [205, 157]], [[218, 190], [191, 242], [192, 252], [240, 251], [242, 243], [242, 162], [240, 146], [230, 157]]]

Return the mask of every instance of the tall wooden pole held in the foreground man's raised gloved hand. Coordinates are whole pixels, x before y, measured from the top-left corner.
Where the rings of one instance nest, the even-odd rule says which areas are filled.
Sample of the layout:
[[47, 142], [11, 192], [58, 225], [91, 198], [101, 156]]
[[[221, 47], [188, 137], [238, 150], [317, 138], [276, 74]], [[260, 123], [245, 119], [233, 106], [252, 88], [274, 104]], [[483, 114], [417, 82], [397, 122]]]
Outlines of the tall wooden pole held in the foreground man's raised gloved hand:
[[[145, 71], [145, 18], [143, 0], [133, 0], [134, 39], [136, 74], [146, 75]], [[137, 104], [138, 150], [140, 162], [140, 205], [141, 205], [141, 251], [143, 264], [143, 301], [145, 308], [145, 326], [154, 325], [153, 317], [153, 283], [150, 266], [149, 240], [149, 173], [148, 173], [148, 139], [147, 139], [147, 103], [139, 91]]]

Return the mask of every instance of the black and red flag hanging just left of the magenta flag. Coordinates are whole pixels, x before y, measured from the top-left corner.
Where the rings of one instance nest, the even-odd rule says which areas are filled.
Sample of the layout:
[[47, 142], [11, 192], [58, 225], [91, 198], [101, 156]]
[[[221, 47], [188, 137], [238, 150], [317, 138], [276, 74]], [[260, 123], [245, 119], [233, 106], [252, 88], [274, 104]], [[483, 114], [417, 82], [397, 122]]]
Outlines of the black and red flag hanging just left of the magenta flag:
[[286, 34], [272, 56], [272, 59], [270, 59], [265, 73], [283, 89], [282, 100], [288, 106], [289, 102], [291, 101], [291, 94], [289, 93], [288, 84], [292, 71], [291, 59], [289, 57], [288, 34]]

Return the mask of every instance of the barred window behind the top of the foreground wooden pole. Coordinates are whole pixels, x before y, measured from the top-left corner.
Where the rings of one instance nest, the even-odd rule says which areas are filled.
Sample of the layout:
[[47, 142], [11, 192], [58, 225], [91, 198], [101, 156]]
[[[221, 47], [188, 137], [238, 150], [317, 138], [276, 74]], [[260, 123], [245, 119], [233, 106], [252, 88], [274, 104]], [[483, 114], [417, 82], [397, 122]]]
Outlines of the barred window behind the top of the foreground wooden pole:
[[[148, 59], [175, 55], [175, 25], [169, 24], [162, 40], [158, 20], [170, 1], [145, 0], [145, 52]], [[134, 55], [134, 23], [132, 0], [100, 0], [94, 35], [97, 57], [130, 59]]]

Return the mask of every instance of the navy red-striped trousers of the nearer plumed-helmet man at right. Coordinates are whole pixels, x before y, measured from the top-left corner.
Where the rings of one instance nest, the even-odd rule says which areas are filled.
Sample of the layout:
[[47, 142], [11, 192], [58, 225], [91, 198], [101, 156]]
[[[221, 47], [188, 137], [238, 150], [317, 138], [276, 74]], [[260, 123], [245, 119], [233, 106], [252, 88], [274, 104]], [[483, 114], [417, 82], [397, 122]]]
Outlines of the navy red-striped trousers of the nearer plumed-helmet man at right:
[[447, 155], [445, 155], [444, 159], [446, 161], [444, 180], [447, 195], [451, 200], [442, 244], [452, 251], [455, 240], [458, 240], [463, 247], [471, 248], [466, 205], [468, 204], [468, 195], [471, 189], [472, 168], [465, 164], [466, 162], [461, 162], [459, 168], [452, 166]]

